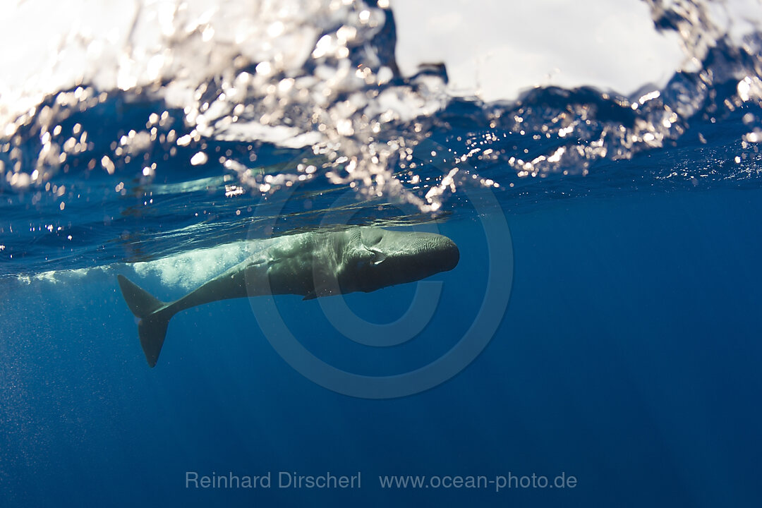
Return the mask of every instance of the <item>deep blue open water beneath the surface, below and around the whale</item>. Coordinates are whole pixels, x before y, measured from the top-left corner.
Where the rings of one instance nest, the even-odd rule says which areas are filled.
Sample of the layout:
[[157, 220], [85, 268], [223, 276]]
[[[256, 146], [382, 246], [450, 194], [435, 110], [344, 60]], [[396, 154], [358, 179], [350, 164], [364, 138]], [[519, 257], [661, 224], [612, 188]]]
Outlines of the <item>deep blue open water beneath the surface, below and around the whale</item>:
[[[498, 334], [454, 379], [389, 401], [304, 379], [246, 300], [178, 315], [149, 369], [113, 274], [76, 286], [2, 280], [0, 506], [760, 506], [760, 216], [760, 190], [508, 213], [515, 273]], [[468, 327], [488, 277], [479, 221], [441, 230], [462, 260], [437, 277], [440, 310], [411, 343], [369, 352], [298, 297], [279, 297], [281, 314], [347, 369], [431, 361]], [[383, 319], [404, 312], [412, 287], [347, 300]], [[362, 471], [363, 487], [186, 490], [188, 470]], [[565, 471], [578, 487], [495, 494], [377, 481], [509, 471]]]

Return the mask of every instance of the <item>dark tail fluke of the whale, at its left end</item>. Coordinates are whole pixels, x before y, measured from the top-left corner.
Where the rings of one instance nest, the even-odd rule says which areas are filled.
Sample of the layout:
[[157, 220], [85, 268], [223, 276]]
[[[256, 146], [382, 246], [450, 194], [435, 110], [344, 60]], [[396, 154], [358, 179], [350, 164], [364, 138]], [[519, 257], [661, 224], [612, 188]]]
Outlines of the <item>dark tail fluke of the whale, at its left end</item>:
[[162, 312], [168, 307], [166, 302], [155, 298], [145, 289], [130, 282], [125, 276], [117, 275], [117, 280], [130, 311], [140, 318], [138, 323], [140, 345], [143, 353], [146, 354], [146, 361], [153, 367], [158, 361], [158, 353], [162, 351], [169, 319], [174, 312]]

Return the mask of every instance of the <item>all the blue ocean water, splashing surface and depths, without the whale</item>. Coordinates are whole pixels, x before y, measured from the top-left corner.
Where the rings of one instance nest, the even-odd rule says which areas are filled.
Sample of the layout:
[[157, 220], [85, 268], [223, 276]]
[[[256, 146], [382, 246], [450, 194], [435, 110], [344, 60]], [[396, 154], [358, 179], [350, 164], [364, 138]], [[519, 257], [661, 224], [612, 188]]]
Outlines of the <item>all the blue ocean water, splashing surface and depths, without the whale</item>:
[[[384, 11], [392, 28], [366, 41], [379, 75], [394, 58]], [[662, 29], [680, 24], [668, 14]], [[756, 37], [720, 40], [659, 94], [450, 97], [370, 141], [367, 115], [350, 113], [334, 119], [338, 149], [203, 133], [160, 93], [167, 83], [46, 97], [0, 139], [0, 505], [759, 506]], [[367, 46], [346, 58], [369, 58]], [[219, 81], [204, 83], [201, 110], [204, 94], [231, 94]], [[415, 78], [389, 83], [373, 86], [424, 94]], [[252, 90], [240, 104], [257, 117], [280, 111]], [[85, 98], [62, 106], [68, 94]], [[409, 157], [357, 148], [379, 139], [408, 142]], [[263, 238], [344, 225], [437, 231], [460, 261], [428, 286], [346, 295], [351, 314], [331, 307], [341, 297], [191, 308], [146, 365], [117, 274], [174, 299]], [[342, 334], [358, 318], [409, 318], [432, 288], [437, 305], [411, 340]], [[495, 308], [495, 330], [474, 327]], [[458, 355], [463, 369], [422, 391], [402, 382], [411, 395], [347, 396], [294, 368], [281, 320], [344, 372], [384, 379]], [[485, 343], [472, 361], [467, 336]], [[204, 488], [196, 474], [270, 483]], [[358, 486], [293, 484], [331, 475]]]

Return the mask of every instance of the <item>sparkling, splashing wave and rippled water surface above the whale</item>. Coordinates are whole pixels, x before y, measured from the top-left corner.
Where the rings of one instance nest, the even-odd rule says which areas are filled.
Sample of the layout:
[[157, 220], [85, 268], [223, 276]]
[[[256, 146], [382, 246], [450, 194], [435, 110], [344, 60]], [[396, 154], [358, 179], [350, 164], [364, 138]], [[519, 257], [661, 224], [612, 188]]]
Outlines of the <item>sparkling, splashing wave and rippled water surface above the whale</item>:
[[[495, 34], [435, 39], [464, 23], [449, 2], [437, 5], [418, 7], [431, 9], [434, 26], [411, 23], [409, 8], [388, 0], [17, 2], [5, 15], [18, 30], [0, 40], [28, 41], [5, 44], [17, 49], [0, 61], [9, 218], [0, 255], [40, 272], [52, 260], [85, 267], [208, 248], [241, 238], [261, 219], [255, 203], [289, 187], [299, 204], [287, 207], [296, 219], [285, 229], [312, 225], [336, 190], [357, 195], [351, 210], [364, 222], [395, 216], [399, 203], [415, 222], [455, 211], [453, 195], [474, 184], [507, 209], [622, 187], [759, 184], [754, 2], [637, 4], [645, 18], [634, 25], [648, 34], [628, 34], [627, 52], [603, 41], [610, 57], [633, 67], [637, 56], [655, 58], [645, 40], [679, 44], [682, 56], [661, 82], [624, 92], [592, 76], [595, 86], [552, 76], [501, 85], [495, 63], [426, 61], [415, 37], [450, 40], [443, 54], [473, 47], [474, 62], [498, 58], [483, 49]], [[507, 27], [514, 9], [481, 7], [477, 26], [502, 17]], [[547, 44], [513, 48], [527, 65], [535, 53], [549, 62], [547, 46], [571, 36], [607, 34], [589, 20], [570, 22], [571, 36], [543, 32], [537, 9], [527, 23]], [[629, 19], [606, 9], [599, 24]], [[474, 73], [482, 81], [469, 88]], [[689, 150], [702, 156], [686, 164]], [[650, 153], [658, 164], [639, 158]]]

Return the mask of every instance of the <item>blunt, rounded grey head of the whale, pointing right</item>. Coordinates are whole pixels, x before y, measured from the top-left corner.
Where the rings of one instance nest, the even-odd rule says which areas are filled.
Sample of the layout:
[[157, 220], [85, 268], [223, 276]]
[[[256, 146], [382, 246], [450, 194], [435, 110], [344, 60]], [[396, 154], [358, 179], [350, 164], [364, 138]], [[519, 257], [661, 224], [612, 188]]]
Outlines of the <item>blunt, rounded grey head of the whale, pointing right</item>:
[[344, 259], [343, 292], [370, 292], [453, 270], [458, 247], [443, 235], [359, 228]]

